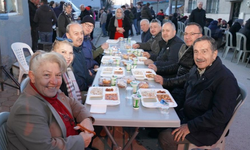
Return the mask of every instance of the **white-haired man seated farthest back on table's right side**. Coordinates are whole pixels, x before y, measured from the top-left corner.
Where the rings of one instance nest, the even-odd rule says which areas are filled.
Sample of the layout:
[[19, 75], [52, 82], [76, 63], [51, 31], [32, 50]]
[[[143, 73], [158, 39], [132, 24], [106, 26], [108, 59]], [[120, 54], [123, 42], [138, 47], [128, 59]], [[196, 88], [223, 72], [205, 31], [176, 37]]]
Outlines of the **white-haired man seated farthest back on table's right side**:
[[140, 22], [140, 26], [141, 26], [141, 30], [142, 30], [141, 42], [145, 43], [152, 37], [152, 34], [150, 33], [150, 30], [149, 30], [148, 19], [142, 19]]

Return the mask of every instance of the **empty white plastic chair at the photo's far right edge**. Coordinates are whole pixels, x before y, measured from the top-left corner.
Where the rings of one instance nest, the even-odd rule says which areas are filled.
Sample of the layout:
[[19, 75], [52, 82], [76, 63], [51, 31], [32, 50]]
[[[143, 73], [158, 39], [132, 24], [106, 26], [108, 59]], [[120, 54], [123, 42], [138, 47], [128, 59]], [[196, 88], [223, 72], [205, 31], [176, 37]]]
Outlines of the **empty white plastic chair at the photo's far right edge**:
[[234, 54], [231, 61], [233, 61], [234, 57], [236, 56], [237, 54], [236, 52], [238, 52], [237, 64], [239, 63], [242, 54], [243, 54], [242, 62], [245, 61], [247, 56], [246, 54], [250, 52], [250, 50], [247, 50], [246, 45], [247, 45], [246, 36], [242, 33], [236, 32], [236, 48], [234, 50]]

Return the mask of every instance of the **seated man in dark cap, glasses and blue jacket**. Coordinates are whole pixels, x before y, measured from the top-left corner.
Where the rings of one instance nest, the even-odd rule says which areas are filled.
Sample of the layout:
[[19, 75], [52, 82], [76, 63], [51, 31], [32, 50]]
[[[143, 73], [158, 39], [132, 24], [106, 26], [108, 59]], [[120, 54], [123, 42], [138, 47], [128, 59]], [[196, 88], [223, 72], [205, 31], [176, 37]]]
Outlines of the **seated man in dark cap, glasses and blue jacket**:
[[[95, 48], [93, 43], [91, 42], [90, 33], [93, 31], [95, 27], [95, 21], [89, 15], [83, 17], [81, 21], [81, 25], [83, 28], [84, 40], [82, 43], [83, 52], [85, 56], [85, 61], [87, 68], [91, 71], [91, 74], [94, 74], [94, 70], [99, 67], [98, 62], [94, 59], [97, 58], [99, 55], [102, 55], [104, 49], [108, 48], [108, 44], [104, 43], [98, 48]], [[100, 62], [99, 62], [100, 63]]]

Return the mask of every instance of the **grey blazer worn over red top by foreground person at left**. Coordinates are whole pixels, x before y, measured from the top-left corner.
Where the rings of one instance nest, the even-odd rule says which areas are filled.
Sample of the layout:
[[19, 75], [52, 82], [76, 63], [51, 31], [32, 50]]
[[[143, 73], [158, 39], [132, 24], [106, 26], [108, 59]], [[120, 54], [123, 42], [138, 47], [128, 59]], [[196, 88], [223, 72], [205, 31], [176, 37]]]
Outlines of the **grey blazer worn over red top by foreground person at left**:
[[[80, 123], [90, 117], [89, 111], [77, 100], [58, 92], [58, 100]], [[84, 149], [81, 135], [66, 137], [66, 127], [54, 107], [30, 84], [19, 96], [7, 121], [8, 150], [75, 150]]]

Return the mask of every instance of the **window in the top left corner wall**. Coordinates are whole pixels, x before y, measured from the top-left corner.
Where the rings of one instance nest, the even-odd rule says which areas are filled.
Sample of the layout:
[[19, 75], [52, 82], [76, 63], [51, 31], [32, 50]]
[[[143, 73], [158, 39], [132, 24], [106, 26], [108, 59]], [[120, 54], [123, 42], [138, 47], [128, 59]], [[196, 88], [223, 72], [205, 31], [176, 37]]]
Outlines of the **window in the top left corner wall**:
[[0, 0], [0, 14], [17, 13], [17, 0]]

